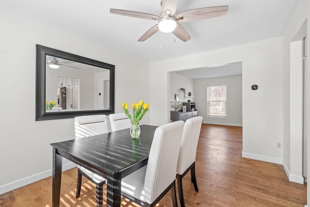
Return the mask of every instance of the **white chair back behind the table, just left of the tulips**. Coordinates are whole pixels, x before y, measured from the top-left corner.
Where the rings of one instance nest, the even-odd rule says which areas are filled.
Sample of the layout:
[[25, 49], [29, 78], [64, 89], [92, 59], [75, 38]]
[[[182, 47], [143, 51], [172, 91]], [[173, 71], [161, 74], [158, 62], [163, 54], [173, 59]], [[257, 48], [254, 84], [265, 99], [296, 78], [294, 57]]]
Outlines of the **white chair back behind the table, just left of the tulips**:
[[131, 122], [125, 113], [111, 113], [109, 114], [111, 131], [118, 131], [131, 127]]

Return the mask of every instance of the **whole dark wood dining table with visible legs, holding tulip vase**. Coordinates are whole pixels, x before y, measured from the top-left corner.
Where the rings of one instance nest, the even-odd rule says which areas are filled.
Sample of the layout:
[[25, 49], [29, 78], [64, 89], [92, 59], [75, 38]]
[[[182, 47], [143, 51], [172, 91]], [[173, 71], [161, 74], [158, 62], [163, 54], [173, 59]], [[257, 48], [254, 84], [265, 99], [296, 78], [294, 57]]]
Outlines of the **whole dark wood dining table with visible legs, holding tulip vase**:
[[62, 158], [107, 179], [107, 207], [121, 206], [121, 181], [148, 161], [156, 126], [141, 125], [139, 139], [128, 129], [81, 139], [51, 143], [53, 146], [52, 206], [60, 205]]

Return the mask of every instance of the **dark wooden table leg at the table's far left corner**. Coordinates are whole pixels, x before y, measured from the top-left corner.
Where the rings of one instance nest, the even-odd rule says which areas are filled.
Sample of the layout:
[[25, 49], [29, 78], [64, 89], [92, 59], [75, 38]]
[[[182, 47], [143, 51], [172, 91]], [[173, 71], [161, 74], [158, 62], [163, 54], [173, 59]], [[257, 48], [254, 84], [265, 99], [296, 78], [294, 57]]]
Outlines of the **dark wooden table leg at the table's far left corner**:
[[60, 184], [62, 181], [62, 156], [56, 153], [53, 147], [53, 187], [52, 187], [52, 206], [59, 207]]

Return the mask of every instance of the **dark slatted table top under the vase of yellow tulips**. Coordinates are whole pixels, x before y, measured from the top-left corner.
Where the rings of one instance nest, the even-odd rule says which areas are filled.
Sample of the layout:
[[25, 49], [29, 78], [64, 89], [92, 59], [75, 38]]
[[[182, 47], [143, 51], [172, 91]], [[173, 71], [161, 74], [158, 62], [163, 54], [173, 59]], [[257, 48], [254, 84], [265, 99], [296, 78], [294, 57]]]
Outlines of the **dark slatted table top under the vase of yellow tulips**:
[[114, 174], [148, 159], [156, 126], [141, 125], [139, 139], [132, 139], [129, 128], [60, 143], [51, 143], [63, 157]]

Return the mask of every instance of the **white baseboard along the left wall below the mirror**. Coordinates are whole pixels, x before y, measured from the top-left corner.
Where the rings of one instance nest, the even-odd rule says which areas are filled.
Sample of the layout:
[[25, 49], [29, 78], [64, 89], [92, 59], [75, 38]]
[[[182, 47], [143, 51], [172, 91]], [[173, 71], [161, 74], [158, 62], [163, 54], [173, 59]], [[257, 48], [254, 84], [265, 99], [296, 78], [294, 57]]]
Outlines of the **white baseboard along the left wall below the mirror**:
[[[69, 169], [74, 168], [76, 166], [77, 166], [77, 164], [74, 162], [64, 164], [64, 165], [62, 165], [62, 171], [69, 170]], [[31, 184], [31, 183], [36, 182], [38, 180], [42, 180], [42, 179], [47, 178], [49, 176], [52, 176], [52, 169], [47, 170], [47, 171], [42, 172], [42, 173], [38, 173], [36, 175], [31, 175], [29, 177], [25, 177], [25, 178], [20, 179], [20, 180], [16, 180], [16, 181], [8, 183], [8, 184], [5, 184], [3, 186], [0, 186], [0, 195], [3, 193], [9, 192], [9, 191], [13, 191], [13, 190], [20, 188], [20, 187], [23, 187], [25, 185]]]

